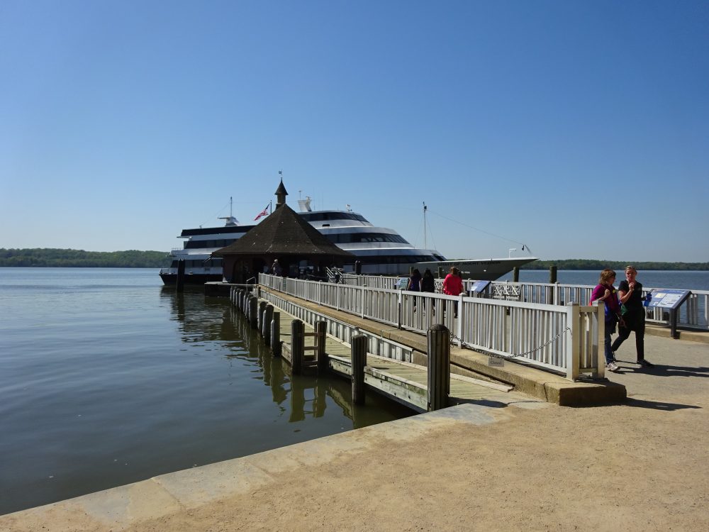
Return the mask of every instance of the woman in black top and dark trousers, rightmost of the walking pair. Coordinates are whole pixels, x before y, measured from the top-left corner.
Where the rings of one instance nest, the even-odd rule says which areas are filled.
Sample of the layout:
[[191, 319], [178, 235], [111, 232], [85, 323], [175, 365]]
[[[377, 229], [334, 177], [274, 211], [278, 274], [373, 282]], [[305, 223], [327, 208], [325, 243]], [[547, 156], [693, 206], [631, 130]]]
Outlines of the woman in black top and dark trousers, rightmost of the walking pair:
[[621, 281], [618, 285], [620, 303], [623, 305], [621, 307], [623, 321], [618, 328], [618, 338], [615, 338], [610, 348], [615, 352], [620, 344], [627, 340], [631, 331], [635, 331], [637, 365], [654, 367], [654, 364], [645, 360], [645, 309], [642, 307], [642, 301], [647, 298], [642, 297], [642, 284], [635, 280], [636, 276], [635, 266], [625, 267], [625, 281]]

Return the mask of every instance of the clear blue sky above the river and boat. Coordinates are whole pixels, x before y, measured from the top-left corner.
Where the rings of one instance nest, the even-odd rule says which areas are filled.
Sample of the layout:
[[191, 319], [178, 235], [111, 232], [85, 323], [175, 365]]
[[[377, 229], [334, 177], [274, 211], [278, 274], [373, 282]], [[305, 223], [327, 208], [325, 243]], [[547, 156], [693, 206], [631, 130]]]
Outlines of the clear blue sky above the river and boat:
[[0, 3], [0, 247], [297, 208], [448, 257], [709, 261], [707, 1]]

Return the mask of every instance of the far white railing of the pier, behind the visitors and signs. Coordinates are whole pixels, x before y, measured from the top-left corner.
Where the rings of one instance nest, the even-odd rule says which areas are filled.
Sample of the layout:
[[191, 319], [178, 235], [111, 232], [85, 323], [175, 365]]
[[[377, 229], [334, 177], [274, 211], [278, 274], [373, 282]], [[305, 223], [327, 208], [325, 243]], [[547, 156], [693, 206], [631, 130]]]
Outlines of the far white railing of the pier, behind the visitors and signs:
[[[348, 286], [368, 286], [376, 288], [393, 288], [401, 277], [385, 277], [379, 275], [342, 275], [342, 283]], [[436, 279], [437, 292], [441, 290], [441, 281]], [[465, 292], [469, 293], [473, 283], [471, 279], [464, 280]], [[493, 281], [483, 294], [473, 294], [472, 297], [486, 299], [501, 299], [504, 301], [523, 301], [526, 303], [565, 306], [569, 303], [588, 305], [593, 292], [590, 284], [549, 284], [540, 282], [508, 282]], [[643, 297], [661, 287], [643, 287]], [[670, 326], [671, 316], [666, 309], [650, 308], [646, 310], [648, 323]], [[709, 291], [692, 290], [686, 301], [679, 307], [677, 325], [683, 328], [693, 328], [706, 331], [709, 329]]]

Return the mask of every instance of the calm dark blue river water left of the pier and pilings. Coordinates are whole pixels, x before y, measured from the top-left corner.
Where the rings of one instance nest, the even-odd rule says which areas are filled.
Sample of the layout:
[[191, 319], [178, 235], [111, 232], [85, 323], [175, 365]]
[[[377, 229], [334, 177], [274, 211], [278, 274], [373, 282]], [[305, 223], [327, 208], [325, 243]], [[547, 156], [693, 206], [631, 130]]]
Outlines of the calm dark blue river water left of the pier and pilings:
[[157, 270], [0, 268], [0, 514], [411, 415]]

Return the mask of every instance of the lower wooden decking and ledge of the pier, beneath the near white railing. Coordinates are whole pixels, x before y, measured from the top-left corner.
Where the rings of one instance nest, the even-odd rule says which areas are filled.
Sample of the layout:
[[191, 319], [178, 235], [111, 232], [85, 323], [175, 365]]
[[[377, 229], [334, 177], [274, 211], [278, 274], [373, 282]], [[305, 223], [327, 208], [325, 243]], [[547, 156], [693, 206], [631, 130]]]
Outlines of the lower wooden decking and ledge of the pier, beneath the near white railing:
[[[326, 352], [333, 355], [333, 358], [328, 358], [328, 368], [344, 377], [351, 375], [350, 354], [347, 352], [350, 343], [342, 339], [352, 338], [357, 333], [367, 334], [370, 348], [364, 370], [365, 384], [416, 411], [427, 409], [426, 336], [327, 309], [264, 287], [260, 287], [258, 293], [284, 316], [280, 320], [279, 330], [284, 356], [289, 361], [289, 344], [292, 341], [290, 323], [294, 318], [302, 319], [308, 331], [313, 330], [308, 323], [327, 321], [328, 331], [336, 333], [340, 338], [338, 340], [335, 334], [328, 334]], [[242, 301], [235, 301], [237, 306], [245, 306], [245, 292], [242, 292], [241, 297]], [[607, 380], [571, 382], [562, 376], [533, 367], [501, 360], [497, 360], [501, 362], [500, 365], [490, 365], [490, 361], [487, 355], [452, 346], [449, 405], [470, 401], [508, 404], [510, 401], [541, 400], [579, 406], [610, 404], [625, 399], [625, 388]], [[514, 392], [510, 392], [511, 389]], [[510, 393], [513, 395], [510, 396]]]

